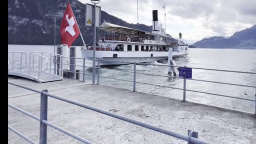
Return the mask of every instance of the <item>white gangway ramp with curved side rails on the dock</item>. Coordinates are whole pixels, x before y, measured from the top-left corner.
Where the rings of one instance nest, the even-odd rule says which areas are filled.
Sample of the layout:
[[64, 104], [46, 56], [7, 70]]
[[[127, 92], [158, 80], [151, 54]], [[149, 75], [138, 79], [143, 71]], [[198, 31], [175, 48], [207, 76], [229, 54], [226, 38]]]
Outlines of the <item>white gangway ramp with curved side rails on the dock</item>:
[[63, 60], [69, 59], [63, 55], [49, 52], [9, 52], [8, 75], [20, 76], [43, 83], [63, 79]]

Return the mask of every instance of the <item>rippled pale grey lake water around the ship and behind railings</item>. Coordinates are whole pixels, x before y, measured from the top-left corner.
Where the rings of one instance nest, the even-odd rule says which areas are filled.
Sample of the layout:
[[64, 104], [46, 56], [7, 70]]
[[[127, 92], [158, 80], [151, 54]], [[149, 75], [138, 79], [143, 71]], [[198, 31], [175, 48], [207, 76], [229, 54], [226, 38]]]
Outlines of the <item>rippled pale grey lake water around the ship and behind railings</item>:
[[[54, 52], [54, 46], [49, 45], [9, 45], [9, 51], [44, 51]], [[82, 57], [80, 48], [77, 47], [77, 57]], [[178, 66], [224, 69], [236, 71], [256, 72], [256, 50], [237, 50], [237, 49], [189, 49], [189, 54], [186, 57], [174, 58]], [[158, 65], [167, 65], [167, 61], [151, 62]], [[82, 60], [77, 60], [77, 65], [82, 65]], [[92, 61], [86, 60], [86, 66], [92, 66]], [[133, 65], [121, 65], [108, 67], [109, 69], [118, 69], [125, 71], [133, 71]], [[77, 68], [82, 69], [82, 68]], [[138, 73], [158, 74], [167, 76], [167, 67], [162, 66], [142, 66], [137, 65]], [[92, 74], [91, 68], [86, 68], [87, 74]], [[100, 70], [100, 76], [114, 77], [133, 81], [132, 73], [124, 73], [113, 70]], [[193, 69], [193, 78], [203, 79], [208, 81], [234, 83], [242, 85], [256, 86], [255, 74], [229, 73], [224, 71], [210, 71]], [[86, 75], [86, 81], [92, 81], [91, 76]], [[97, 80], [96, 80], [97, 82]], [[137, 74], [137, 82], [171, 86], [183, 88], [183, 79], [174, 79], [161, 76], [150, 76]], [[100, 84], [121, 87], [123, 89], [133, 90], [132, 82], [117, 81], [115, 79], [100, 78]], [[187, 80], [187, 89], [203, 91], [209, 93], [217, 93], [230, 95], [232, 97], [246, 98], [255, 100], [255, 88], [242, 87], [225, 84], [215, 84], [209, 82], [199, 82]], [[166, 87], [145, 85], [137, 83], [137, 91], [163, 95], [182, 100], [183, 91], [170, 89]], [[113, 93], [115, 94], [115, 93]], [[187, 92], [187, 100], [207, 105], [243, 110], [254, 113], [255, 102], [239, 99], [219, 97], [204, 93]]]

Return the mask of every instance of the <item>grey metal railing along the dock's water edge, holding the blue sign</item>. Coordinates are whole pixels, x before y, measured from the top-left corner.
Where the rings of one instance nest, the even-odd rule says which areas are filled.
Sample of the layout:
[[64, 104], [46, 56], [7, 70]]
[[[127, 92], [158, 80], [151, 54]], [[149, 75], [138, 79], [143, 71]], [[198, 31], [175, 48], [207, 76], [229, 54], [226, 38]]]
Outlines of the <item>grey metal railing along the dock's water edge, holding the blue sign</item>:
[[[83, 65], [75, 65], [75, 66], [78, 66], [78, 67], [82, 67], [83, 71], [81, 73], [76, 73], [76, 71], [71, 72], [71, 73], [82, 74], [83, 75], [83, 81], [85, 81], [85, 75], [90, 75], [90, 74], [86, 74], [85, 73], [85, 68], [87, 67], [87, 66], [85, 66], [85, 61], [86, 60], [92, 60], [92, 59], [87, 59], [87, 58], [74, 58], [74, 59], [81, 59], [81, 60], [83, 60], [83, 62], [82, 62]], [[126, 65], [130, 64], [130, 65], [133, 65], [133, 71], [101, 68], [100, 67], [100, 63], [102, 61], [124, 63]], [[98, 67], [97, 67], [97, 69], [98, 69], [97, 80], [98, 81], [97, 81], [97, 84], [100, 83], [100, 77], [102, 77], [102, 78], [115, 79], [115, 80], [118, 80], [118, 81], [131, 82], [131, 83], [133, 83], [133, 91], [136, 91], [136, 84], [145, 84], [145, 85], [151, 85], [151, 86], [166, 87], [166, 88], [170, 88], [170, 89], [177, 89], [177, 90], [182, 90], [183, 91], [183, 99], [182, 99], [182, 101], [186, 101], [186, 92], [187, 91], [188, 92], [197, 92], [197, 93], [216, 95], [216, 96], [226, 97], [226, 98], [233, 98], [233, 99], [240, 99], [240, 100], [246, 100], [246, 101], [253, 101], [253, 102], [255, 102], [255, 110], [254, 110], [255, 113], [254, 114], [256, 115], [256, 85], [253, 86], [253, 85], [226, 83], [226, 82], [206, 81], [206, 80], [203, 80], [203, 79], [186, 78], [186, 77], [178, 77], [178, 76], [170, 76], [170, 75], [166, 76], [166, 75], [156, 75], [156, 74], [140, 73], [140, 72], [137, 72], [137, 69], [136, 69], [137, 65], [151, 65], [151, 66], [177, 67], [177, 68], [182, 68], [182, 67], [185, 67], [185, 66], [167, 66], [167, 65], [156, 65], [156, 64], [151, 64], [151, 63], [136, 63], [136, 62], [131, 63], [131, 62], [124, 62], [124, 61], [113, 61], [113, 60], [102, 60], [102, 59], [98, 59], [97, 63], [98, 63]], [[211, 70], [211, 71], [223, 71], [223, 72], [229, 72], [229, 73], [253, 74], [253, 75], [256, 76], [256, 73], [254, 73], [254, 72], [247, 72], [247, 71], [222, 70], [222, 69], [197, 68], [197, 67], [186, 67], [186, 68], [200, 69], [200, 70]], [[127, 79], [121, 79], [121, 78], [101, 76], [100, 75], [100, 70], [113, 70], [113, 71], [121, 71], [121, 72], [125, 72], [125, 73], [133, 73], [133, 79], [132, 80], [127, 80]], [[136, 75], [137, 74], [150, 75], [150, 76], [160, 76], [160, 77], [169, 77], [169, 78], [174, 78], [174, 79], [175, 78], [183, 79], [183, 87], [179, 88], [179, 87], [172, 87], [172, 86], [164, 86], [164, 85], [158, 85], [158, 84], [150, 84], [150, 83], [145, 83], [145, 82], [139, 82], [139, 81], [136, 80]], [[219, 93], [210, 93], [210, 92], [204, 92], [204, 91], [189, 90], [189, 89], [187, 89], [187, 80], [188, 81], [200, 81], [200, 82], [209, 82], [209, 83], [217, 83], [217, 84], [225, 84], [225, 85], [234, 85], [234, 86], [243, 86], [243, 87], [255, 88], [255, 99], [253, 100], [253, 99], [247, 99], [247, 98], [234, 97], [232, 95], [225, 95], [225, 94], [219, 94]]]

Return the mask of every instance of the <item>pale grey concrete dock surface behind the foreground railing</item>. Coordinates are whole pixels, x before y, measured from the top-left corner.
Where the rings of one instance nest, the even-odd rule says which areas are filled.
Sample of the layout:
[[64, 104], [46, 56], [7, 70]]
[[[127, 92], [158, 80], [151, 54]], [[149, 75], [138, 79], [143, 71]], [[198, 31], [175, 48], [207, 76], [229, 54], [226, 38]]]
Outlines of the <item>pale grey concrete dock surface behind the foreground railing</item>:
[[[28, 86], [88, 106], [137, 119], [180, 134], [188, 129], [198, 138], [212, 143], [255, 143], [256, 116], [239, 111], [181, 102], [154, 94], [133, 92], [105, 85], [91, 85], [65, 78], [63, 81], [37, 83], [8, 77], [13, 83]], [[40, 94], [8, 85], [9, 103], [40, 116]], [[39, 122], [9, 107], [8, 123], [39, 142]], [[48, 98], [48, 120], [94, 143], [187, 143], [119, 119], [99, 114], [70, 103]], [[9, 143], [27, 143], [8, 130]], [[47, 143], [82, 143], [47, 127]]]

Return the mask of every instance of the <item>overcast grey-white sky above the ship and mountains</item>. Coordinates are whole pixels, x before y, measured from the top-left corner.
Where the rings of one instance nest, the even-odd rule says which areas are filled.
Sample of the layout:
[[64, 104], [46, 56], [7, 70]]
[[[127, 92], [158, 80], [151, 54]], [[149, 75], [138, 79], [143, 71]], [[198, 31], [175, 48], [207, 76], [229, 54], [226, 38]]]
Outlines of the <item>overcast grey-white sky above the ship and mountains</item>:
[[[90, 3], [90, 0], [79, 0]], [[256, 24], [256, 0], [138, 0], [139, 23], [152, 25], [152, 10], [158, 10], [166, 31], [173, 37], [179, 32], [188, 42], [211, 36], [231, 36]], [[126, 22], [137, 23], [137, 0], [101, 0], [101, 10]]]

